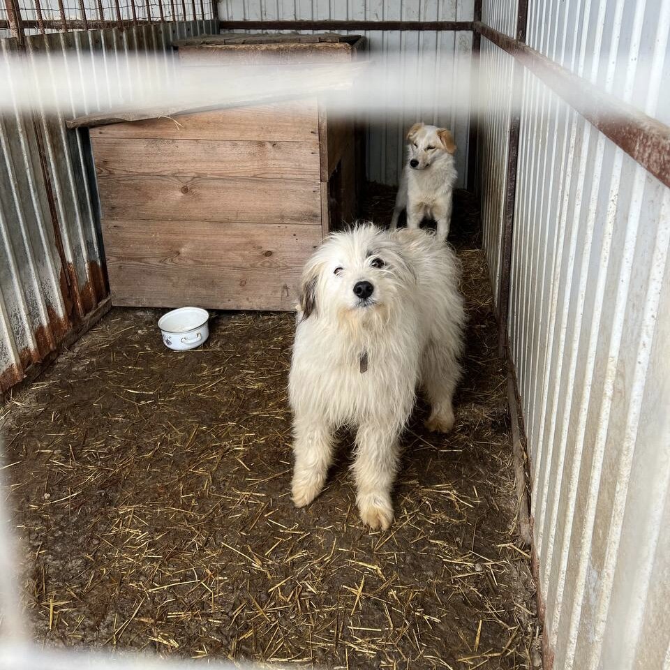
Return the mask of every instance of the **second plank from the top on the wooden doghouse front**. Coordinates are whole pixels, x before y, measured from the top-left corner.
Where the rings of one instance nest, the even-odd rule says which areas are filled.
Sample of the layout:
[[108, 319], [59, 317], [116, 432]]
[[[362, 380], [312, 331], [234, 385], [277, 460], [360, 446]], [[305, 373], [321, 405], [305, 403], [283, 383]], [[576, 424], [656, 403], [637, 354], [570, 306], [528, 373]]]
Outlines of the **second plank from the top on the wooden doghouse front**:
[[92, 138], [98, 177], [319, 179], [319, 143]]

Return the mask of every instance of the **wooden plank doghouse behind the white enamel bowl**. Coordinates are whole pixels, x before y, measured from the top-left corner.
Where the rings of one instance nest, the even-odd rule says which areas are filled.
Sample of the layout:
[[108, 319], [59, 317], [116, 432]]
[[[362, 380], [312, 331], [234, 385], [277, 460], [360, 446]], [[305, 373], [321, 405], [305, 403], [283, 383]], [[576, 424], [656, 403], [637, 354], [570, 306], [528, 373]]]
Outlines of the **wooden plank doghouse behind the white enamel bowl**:
[[[179, 48], [188, 58], [202, 50], [212, 63], [230, 48], [235, 63], [245, 53], [255, 63], [274, 45], [282, 60], [304, 63], [326, 52], [350, 59], [360, 44], [352, 36], [281, 36], [269, 45], [272, 36], [240, 37]], [[69, 124], [89, 126], [112, 302], [292, 309], [308, 255], [355, 218], [354, 125], [329, 122], [318, 96], [110, 123], [126, 118], [134, 117]]]

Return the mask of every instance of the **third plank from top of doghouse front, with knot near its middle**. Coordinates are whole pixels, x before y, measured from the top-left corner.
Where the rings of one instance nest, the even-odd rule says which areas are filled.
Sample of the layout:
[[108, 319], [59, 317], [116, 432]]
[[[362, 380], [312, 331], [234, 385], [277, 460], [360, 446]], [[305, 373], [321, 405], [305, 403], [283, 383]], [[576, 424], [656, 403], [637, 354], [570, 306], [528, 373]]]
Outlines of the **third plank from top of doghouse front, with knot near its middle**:
[[320, 182], [225, 177], [98, 177], [103, 218], [321, 223]]

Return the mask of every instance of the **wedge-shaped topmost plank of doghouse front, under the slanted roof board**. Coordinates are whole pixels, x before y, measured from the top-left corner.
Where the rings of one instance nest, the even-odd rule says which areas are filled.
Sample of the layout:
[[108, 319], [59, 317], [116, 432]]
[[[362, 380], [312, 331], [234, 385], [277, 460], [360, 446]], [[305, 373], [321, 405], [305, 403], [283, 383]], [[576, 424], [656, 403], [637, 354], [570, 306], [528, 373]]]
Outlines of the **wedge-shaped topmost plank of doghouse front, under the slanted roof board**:
[[91, 128], [93, 137], [168, 140], [318, 140], [316, 98], [232, 107]]

